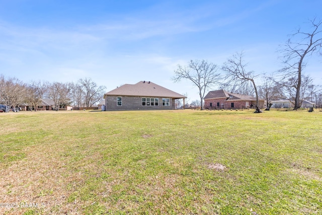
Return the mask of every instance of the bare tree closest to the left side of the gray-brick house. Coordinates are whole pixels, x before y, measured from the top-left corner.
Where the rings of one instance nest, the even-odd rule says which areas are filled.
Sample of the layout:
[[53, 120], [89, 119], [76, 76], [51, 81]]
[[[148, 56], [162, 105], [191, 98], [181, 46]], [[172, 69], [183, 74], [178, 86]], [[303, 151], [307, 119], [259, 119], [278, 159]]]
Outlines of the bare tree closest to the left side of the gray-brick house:
[[78, 83], [83, 88], [86, 107], [92, 107], [103, 98], [105, 86], [98, 86], [91, 78], [79, 79]]

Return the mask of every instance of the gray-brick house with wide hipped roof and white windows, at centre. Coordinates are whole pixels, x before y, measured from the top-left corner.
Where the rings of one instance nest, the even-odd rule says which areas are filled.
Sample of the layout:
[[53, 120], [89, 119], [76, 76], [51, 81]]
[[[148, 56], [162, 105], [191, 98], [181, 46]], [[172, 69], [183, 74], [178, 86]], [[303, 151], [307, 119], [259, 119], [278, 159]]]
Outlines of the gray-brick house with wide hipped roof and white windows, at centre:
[[104, 94], [106, 110], [171, 110], [176, 99], [187, 97], [156, 85], [141, 81], [125, 84]]

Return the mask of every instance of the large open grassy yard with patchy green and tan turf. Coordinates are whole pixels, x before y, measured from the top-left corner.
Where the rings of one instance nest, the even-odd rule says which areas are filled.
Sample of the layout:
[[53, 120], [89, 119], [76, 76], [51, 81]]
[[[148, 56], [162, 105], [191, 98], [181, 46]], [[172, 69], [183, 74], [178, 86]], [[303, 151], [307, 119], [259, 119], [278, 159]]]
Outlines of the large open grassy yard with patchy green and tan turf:
[[0, 120], [0, 214], [322, 214], [322, 112]]

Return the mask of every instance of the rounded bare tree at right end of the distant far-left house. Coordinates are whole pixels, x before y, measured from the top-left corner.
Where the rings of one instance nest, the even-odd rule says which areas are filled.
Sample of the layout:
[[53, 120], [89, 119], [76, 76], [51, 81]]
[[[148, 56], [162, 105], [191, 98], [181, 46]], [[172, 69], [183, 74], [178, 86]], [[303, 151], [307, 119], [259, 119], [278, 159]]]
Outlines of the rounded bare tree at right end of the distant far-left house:
[[70, 101], [70, 89], [67, 84], [54, 82], [49, 87], [49, 98], [54, 101], [55, 110], [59, 110], [61, 104], [66, 105]]

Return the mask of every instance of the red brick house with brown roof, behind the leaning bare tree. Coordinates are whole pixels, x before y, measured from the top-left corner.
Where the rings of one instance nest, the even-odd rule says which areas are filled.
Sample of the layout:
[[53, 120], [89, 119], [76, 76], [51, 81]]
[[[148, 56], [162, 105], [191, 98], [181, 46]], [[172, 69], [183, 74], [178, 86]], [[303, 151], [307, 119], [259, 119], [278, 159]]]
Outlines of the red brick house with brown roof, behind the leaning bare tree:
[[[204, 108], [208, 109], [243, 109], [256, 106], [256, 98], [224, 90], [210, 91], [204, 98]], [[259, 99], [259, 107], [264, 108], [265, 100]]]

